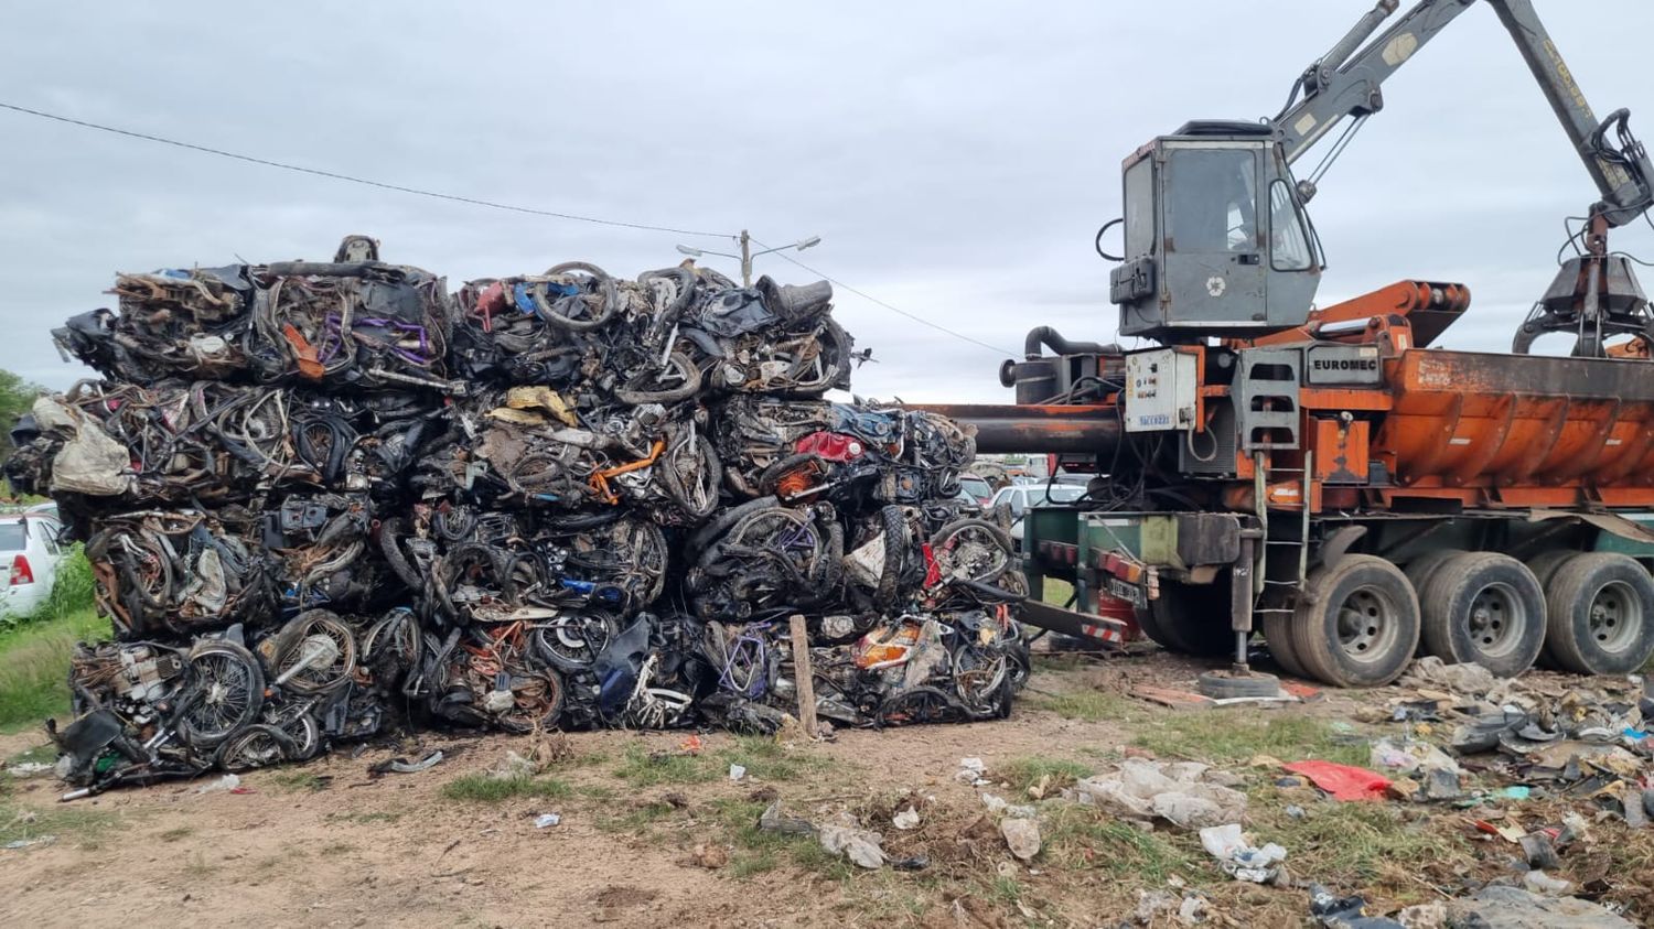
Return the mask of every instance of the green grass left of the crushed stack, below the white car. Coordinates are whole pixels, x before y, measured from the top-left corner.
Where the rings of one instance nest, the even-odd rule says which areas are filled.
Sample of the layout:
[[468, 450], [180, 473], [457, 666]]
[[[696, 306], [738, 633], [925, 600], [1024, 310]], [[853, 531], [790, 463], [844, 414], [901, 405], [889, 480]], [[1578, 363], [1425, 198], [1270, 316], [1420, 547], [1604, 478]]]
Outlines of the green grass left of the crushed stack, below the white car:
[[109, 623], [91, 608], [0, 633], [0, 732], [66, 716], [69, 655], [98, 638], [109, 638]]

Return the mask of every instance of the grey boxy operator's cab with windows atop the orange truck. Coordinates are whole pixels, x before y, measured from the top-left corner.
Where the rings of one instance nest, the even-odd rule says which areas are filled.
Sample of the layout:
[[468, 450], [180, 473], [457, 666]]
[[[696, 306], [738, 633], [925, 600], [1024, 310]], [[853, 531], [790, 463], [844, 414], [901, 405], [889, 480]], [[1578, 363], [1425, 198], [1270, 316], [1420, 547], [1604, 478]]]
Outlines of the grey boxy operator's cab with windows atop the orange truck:
[[1189, 122], [1125, 162], [1120, 334], [1161, 342], [1302, 326], [1323, 260], [1282, 154], [1259, 122]]

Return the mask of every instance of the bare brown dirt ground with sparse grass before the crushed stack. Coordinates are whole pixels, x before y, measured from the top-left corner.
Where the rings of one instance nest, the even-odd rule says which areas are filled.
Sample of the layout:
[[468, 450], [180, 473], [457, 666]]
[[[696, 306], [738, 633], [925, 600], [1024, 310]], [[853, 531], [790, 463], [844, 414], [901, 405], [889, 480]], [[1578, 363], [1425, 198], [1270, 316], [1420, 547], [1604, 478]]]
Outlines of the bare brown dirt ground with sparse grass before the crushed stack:
[[[1303, 889], [1231, 881], [1189, 835], [1077, 820], [1052, 800], [1042, 805], [1047, 850], [1022, 865], [982, 818], [984, 792], [1029, 802], [1024, 787], [1037, 790], [1035, 777], [1054, 793], [1075, 775], [1154, 752], [1240, 772], [1249, 827], [1282, 836], [1293, 876], [1366, 893], [1376, 909], [1441, 899], [1465, 874], [1508, 871], [1510, 848], [1475, 838], [1462, 810], [1371, 803], [1350, 813], [1313, 792], [1284, 795], [1279, 770], [1242, 760], [1252, 749], [1336, 754], [1345, 742], [1365, 752], [1366, 737], [1399, 726], [1345, 721], [1371, 717], [1363, 707], [1394, 691], [1199, 711], [1126, 696], [1136, 681], [1193, 686], [1197, 671], [1166, 655], [1045, 660], [1009, 721], [842, 731], [815, 746], [705, 734], [690, 755], [685, 732], [554, 736], [567, 757], [504, 797], [476, 795], [486, 784], [476, 775], [533, 739], [425, 734], [253, 772], [240, 793], [202, 793], [208, 777], [56, 803], [53, 779], [0, 774], [7, 835], [55, 835], [0, 850], [0, 926], [1118, 926], [1140, 891], [1168, 888], [1179, 899], [1204, 894], [1207, 924], [1300, 922]], [[1247, 732], [1262, 744], [1247, 744]], [[0, 737], [0, 757], [41, 741]], [[430, 770], [367, 775], [374, 760], [432, 749], [447, 757]], [[996, 784], [958, 782], [963, 757], [981, 757]], [[729, 780], [731, 760], [749, 775]], [[810, 840], [756, 830], [756, 813], [776, 798], [812, 822], [860, 815], [892, 858], [923, 855], [926, 866], [858, 871]], [[1310, 810], [1308, 825], [1282, 813], [1288, 802]], [[888, 817], [908, 805], [921, 827], [900, 831]], [[549, 812], [561, 823], [536, 828]], [[1374, 835], [1343, 835], [1363, 828]], [[1611, 828], [1599, 827], [1604, 845], [1626, 845], [1609, 841]], [[1351, 851], [1345, 840], [1365, 846]], [[1654, 843], [1637, 841], [1604, 851], [1603, 871], [1654, 861]], [[1581, 868], [1594, 861], [1575, 858]], [[1153, 922], [1174, 924], [1169, 914]]]

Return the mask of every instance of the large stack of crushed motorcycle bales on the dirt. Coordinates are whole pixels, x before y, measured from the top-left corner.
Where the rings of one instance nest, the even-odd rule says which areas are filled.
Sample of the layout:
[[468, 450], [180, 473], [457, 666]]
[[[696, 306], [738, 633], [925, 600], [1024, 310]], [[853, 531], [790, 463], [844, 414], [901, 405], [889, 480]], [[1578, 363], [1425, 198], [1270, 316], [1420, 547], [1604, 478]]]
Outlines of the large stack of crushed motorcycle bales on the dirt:
[[1011, 541], [949, 420], [849, 387], [827, 283], [586, 263], [121, 274], [55, 331], [103, 380], [13, 431], [116, 641], [53, 734], [83, 792], [404, 726], [987, 719], [1027, 671]]

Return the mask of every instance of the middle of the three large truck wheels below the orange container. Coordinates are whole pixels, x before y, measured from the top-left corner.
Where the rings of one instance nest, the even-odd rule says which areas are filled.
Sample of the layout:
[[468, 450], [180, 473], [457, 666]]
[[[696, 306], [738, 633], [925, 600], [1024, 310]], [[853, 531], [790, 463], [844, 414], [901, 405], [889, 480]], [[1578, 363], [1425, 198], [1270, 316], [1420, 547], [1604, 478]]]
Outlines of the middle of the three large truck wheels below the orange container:
[[1465, 552], [1447, 559], [1419, 590], [1426, 655], [1477, 663], [1500, 678], [1533, 666], [1545, 641], [1545, 590], [1510, 555]]

